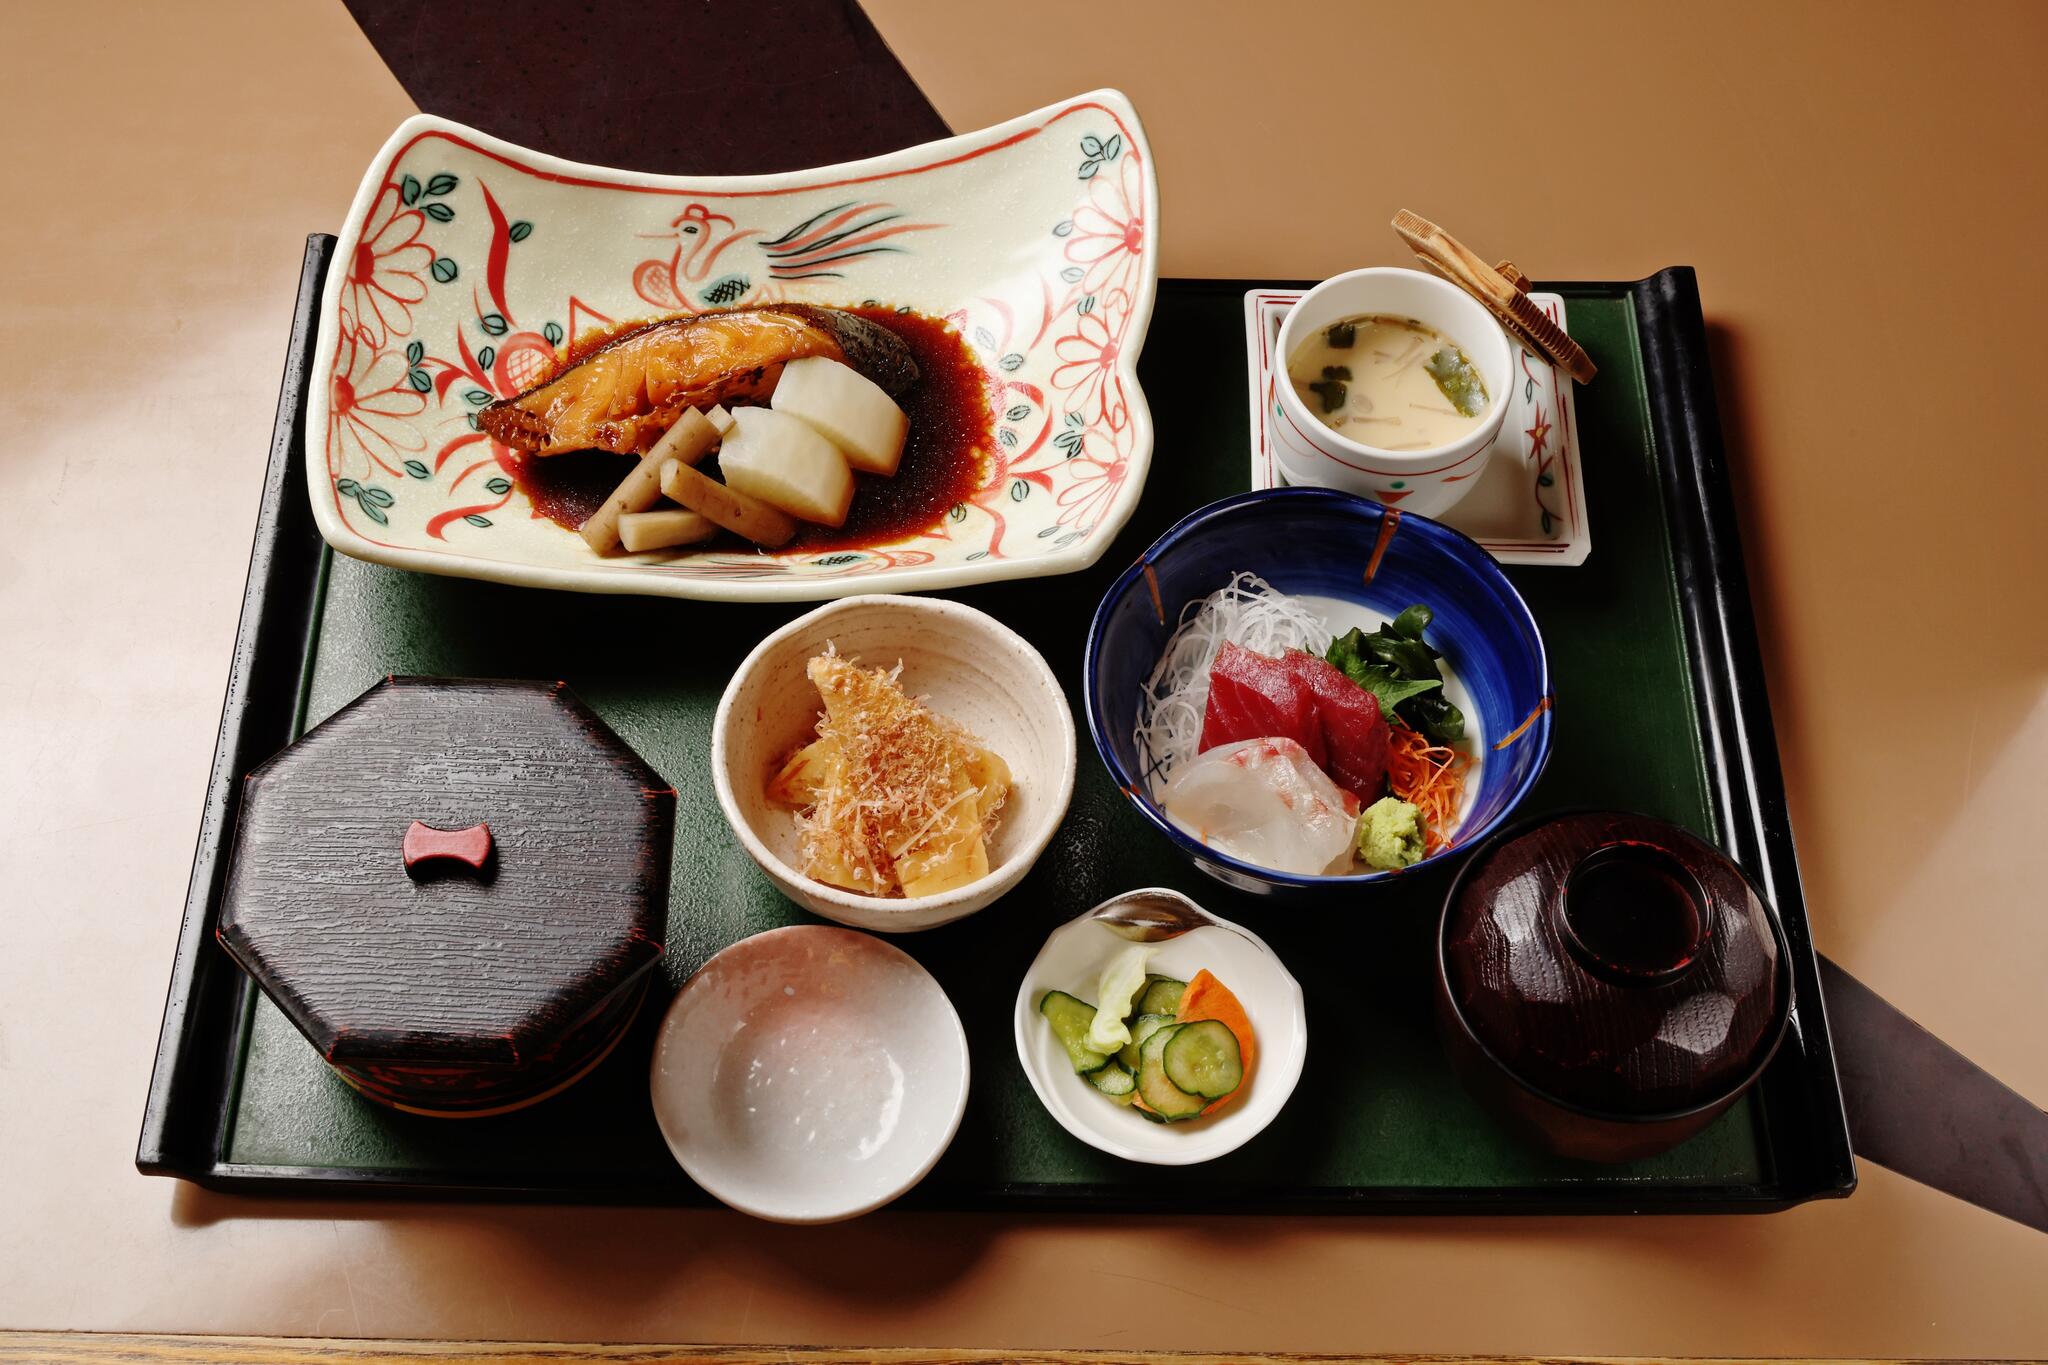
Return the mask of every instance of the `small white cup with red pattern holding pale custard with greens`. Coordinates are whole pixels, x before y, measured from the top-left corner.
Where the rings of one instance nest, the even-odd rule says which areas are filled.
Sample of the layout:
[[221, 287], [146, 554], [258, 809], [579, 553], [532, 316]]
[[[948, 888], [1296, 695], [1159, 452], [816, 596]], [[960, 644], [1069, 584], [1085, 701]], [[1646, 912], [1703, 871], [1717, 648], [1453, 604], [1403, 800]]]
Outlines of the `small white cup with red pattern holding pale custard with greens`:
[[[1425, 450], [1382, 450], [1323, 424], [1288, 383], [1286, 362], [1315, 332], [1360, 315], [1413, 317], [1470, 358], [1487, 385], [1487, 413], [1458, 440]], [[1479, 299], [1421, 270], [1374, 266], [1323, 280], [1288, 309], [1274, 356], [1274, 454], [1288, 483], [1358, 493], [1423, 516], [1444, 516], [1493, 458], [1513, 385], [1513, 344]]]

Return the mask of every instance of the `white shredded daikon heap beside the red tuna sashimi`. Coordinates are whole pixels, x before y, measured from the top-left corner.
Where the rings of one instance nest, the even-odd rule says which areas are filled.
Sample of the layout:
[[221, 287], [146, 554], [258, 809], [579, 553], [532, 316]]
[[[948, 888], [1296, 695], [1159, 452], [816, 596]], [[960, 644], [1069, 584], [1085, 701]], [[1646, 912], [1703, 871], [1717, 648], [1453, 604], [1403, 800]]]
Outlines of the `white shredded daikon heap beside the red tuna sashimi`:
[[1174, 769], [1200, 751], [1208, 667], [1225, 643], [1262, 655], [1307, 649], [1323, 657], [1329, 639], [1321, 616], [1255, 573], [1237, 573], [1221, 589], [1190, 602], [1139, 696], [1133, 741], [1153, 798], [1163, 800]]

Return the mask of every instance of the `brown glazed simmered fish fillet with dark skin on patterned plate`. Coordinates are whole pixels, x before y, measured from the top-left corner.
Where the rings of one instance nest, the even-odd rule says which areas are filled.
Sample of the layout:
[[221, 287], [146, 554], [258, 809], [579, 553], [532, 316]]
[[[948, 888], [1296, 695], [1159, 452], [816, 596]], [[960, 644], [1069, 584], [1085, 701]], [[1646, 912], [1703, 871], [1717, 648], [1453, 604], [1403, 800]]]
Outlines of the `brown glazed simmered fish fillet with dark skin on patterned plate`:
[[477, 426], [535, 454], [639, 454], [684, 407], [766, 401], [782, 366], [803, 356], [844, 360], [891, 395], [918, 381], [918, 362], [881, 323], [791, 303], [666, 317], [621, 332], [561, 375], [492, 403], [477, 413]]

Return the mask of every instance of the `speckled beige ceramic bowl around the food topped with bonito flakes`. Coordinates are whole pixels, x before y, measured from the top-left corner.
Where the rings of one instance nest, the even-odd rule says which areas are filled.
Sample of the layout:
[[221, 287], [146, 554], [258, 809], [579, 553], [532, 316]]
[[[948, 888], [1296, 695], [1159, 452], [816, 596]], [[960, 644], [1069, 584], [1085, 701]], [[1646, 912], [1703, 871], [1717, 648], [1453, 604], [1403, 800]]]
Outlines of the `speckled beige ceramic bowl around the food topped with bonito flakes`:
[[[817, 724], [813, 655], [838, 647], [868, 667], [903, 665], [903, 690], [967, 726], [1010, 763], [989, 876], [942, 896], [862, 896], [799, 872], [797, 819], [768, 780]], [[711, 722], [711, 780], [733, 835], [782, 894], [858, 929], [909, 933], [952, 923], [1018, 884], [1073, 796], [1073, 716], [1053, 669], [993, 616], [938, 598], [846, 598], [788, 622], [745, 657]]]

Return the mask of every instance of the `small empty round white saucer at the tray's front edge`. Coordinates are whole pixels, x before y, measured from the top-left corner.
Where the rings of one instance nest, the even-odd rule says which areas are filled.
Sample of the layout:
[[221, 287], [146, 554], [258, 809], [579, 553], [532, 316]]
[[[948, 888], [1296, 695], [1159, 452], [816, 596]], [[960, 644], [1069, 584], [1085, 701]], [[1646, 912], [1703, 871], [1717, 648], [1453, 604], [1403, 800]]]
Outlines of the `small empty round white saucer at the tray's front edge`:
[[653, 1113], [741, 1214], [823, 1224], [924, 1179], [967, 1111], [967, 1031], [883, 939], [791, 925], [698, 968], [662, 1019]]

